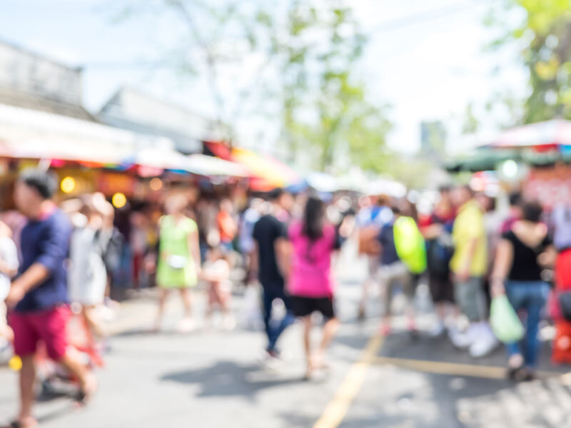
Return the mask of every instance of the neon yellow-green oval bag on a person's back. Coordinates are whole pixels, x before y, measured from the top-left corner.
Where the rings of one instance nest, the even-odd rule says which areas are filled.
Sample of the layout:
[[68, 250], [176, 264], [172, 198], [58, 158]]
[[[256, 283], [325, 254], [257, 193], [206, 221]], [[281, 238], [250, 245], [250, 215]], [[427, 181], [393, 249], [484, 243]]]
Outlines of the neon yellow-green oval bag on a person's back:
[[426, 245], [423, 234], [413, 218], [399, 217], [393, 225], [398, 258], [415, 274], [426, 270]]

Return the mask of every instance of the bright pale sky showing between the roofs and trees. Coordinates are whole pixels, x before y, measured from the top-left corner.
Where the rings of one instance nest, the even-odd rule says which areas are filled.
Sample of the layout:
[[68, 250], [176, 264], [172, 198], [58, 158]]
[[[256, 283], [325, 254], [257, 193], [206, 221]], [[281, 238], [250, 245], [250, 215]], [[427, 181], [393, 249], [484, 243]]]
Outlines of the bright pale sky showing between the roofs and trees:
[[[164, 69], [101, 66], [158, 58], [173, 37], [168, 28], [156, 28], [149, 16], [113, 23], [109, 10], [117, 3], [4, 0], [0, 40], [74, 66], [88, 64], [84, 103], [91, 111], [98, 111], [128, 84], [207, 115], [208, 92], [201, 82], [181, 88], [180, 78]], [[484, 51], [493, 36], [482, 24], [488, 1], [352, 0], [350, 4], [365, 32], [371, 34], [358, 72], [367, 81], [371, 101], [392, 106], [395, 130], [388, 143], [396, 150], [413, 153], [418, 149], [424, 120], [445, 121], [450, 144], [458, 146], [458, 128], [468, 103], [481, 108], [502, 87], [525, 91], [526, 76], [514, 64], [515, 51]], [[100, 65], [89, 66], [96, 63]], [[492, 76], [497, 67], [500, 73]], [[488, 117], [486, 126], [492, 127], [494, 119]], [[257, 123], [246, 123], [241, 137], [255, 138]]]

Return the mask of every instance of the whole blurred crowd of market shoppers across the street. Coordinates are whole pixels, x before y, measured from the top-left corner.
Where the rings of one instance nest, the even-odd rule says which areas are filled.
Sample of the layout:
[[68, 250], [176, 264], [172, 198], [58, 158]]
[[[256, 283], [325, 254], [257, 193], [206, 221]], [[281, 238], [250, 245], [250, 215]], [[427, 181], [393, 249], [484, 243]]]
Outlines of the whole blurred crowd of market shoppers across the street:
[[[251, 304], [243, 322], [263, 325], [266, 362], [281, 360], [281, 333], [302, 320], [310, 379], [328, 367], [325, 351], [339, 323], [333, 263], [348, 240], [368, 265], [355, 315], [364, 318], [379, 307], [381, 335], [395, 327], [398, 290], [407, 301], [406, 327], [419, 334], [414, 297], [424, 282], [435, 312], [428, 335], [446, 334], [472, 357], [504, 342], [508, 374], [526, 380], [537, 367], [538, 330], [550, 323], [553, 360], [571, 362], [570, 206], [547, 211], [512, 193], [502, 209], [497, 198], [463, 185], [441, 188], [430, 209], [420, 210], [409, 198], [388, 195], [275, 189], [232, 198], [183, 188], [171, 189], [161, 203], [116, 209], [101, 193], [58, 206], [57, 185], [49, 172], [25, 170], [14, 194], [19, 212], [4, 213], [0, 223], [0, 301], [6, 302], [0, 305], [0, 347], [13, 348], [21, 360], [19, 426], [34, 426], [34, 370], [42, 358], [76, 382], [78, 402], [93, 394], [91, 369], [102, 365], [104, 323], [118, 307], [111, 296], [125, 284], [158, 288], [154, 332], [163, 328], [172, 292], [184, 308], [176, 329], [197, 328], [197, 285], [207, 296], [203, 325], [213, 327], [219, 311], [220, 327], [233, 330], [233, 287], [245, 287]], [[517, 314], [525, 332], [499, 333], [507, 325], [500, 315], [510, 315], [506, 304], [501, 314], [495, 310], [500, 302], [508, 302], [507, 312]], [[310, 340], [315, 312], [323, 320], [317, 346]], [[71, 320], [79, 327], [70, 329]], [[43, 380], [56, 374], [44, 373]]]

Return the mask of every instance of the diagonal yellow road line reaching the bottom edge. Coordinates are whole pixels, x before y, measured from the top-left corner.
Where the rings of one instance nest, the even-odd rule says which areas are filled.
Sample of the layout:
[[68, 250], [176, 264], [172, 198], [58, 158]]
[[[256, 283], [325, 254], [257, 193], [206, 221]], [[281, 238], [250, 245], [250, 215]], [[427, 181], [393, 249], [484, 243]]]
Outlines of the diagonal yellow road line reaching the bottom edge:
[[336, 428], [343, 422], [345, 414], [347, 414], [353, 399], [357, 396], [363, 382], [365, 382], [365, 375], [367, 374], [368, 367], [375, 360], [378, 350], [383, 345], [383, 337], [376, 335], [372, 337], [360, 360], [355, 362], [345, 374], [343, 382], [335, 392], [335, 397], [327, 404], [323, 414], [313, 425], [313, 428]]

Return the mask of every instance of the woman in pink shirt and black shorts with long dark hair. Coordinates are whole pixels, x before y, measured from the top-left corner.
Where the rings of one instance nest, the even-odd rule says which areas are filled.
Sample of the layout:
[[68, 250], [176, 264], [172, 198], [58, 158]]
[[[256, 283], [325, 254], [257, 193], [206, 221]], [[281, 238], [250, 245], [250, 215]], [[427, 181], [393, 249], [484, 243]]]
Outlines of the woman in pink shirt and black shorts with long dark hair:
[[[308, 379], [315, 369], [326, 367], [323, 354], [338, 327], [333, 305], [331, 255], [340, 248], [340, 240], [333, 225], [325, 220], [325, 204], [314, 197], [305, 205], [303, 221], [293, 223], [288, 234], [291, 243], [288, 290], [293, 312], [303, 318], [308, 363], [305, 378]], [[313, 312], [321, 312], [326, 320], [323, 339], [315, 353], [310, 345]]]

